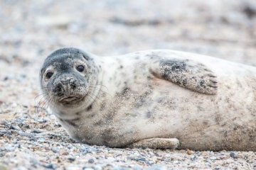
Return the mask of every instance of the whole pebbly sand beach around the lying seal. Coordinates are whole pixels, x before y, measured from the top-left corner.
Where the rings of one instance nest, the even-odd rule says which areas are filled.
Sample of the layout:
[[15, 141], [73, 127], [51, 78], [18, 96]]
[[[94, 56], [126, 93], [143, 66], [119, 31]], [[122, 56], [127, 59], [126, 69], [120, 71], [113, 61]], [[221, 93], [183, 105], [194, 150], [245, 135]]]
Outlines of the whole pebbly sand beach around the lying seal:
[[59, 47], [97, 55], [165, 48], [256, 66], [255, 1], [0, 0], [0, 6], [0, 170], [256, 169], [255, 152], [80, 144], [38, 105], [38, 72]]

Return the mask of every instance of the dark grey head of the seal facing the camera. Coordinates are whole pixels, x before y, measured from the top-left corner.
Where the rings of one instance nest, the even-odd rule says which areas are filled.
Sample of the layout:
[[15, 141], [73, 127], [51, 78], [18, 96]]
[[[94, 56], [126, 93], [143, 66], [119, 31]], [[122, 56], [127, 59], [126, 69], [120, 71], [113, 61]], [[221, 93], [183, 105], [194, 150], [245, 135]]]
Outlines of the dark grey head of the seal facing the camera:
[[85, 101], [91, 79], [97, 79], [92, 57], [72, 47], [51, 53], [40, 73], [41, 89], [50, 104], [64, 107], [78, 106]]

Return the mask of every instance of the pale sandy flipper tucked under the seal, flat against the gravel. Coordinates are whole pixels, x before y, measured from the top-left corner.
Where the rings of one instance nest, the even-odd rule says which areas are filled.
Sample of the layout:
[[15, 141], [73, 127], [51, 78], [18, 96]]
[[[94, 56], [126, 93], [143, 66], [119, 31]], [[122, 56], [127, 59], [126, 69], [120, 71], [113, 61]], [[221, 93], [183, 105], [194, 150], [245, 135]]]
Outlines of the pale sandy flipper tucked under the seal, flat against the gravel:
[[134, 142], [130, 148], [176, 149], [179, 141], [176, 138], [149, 138]]

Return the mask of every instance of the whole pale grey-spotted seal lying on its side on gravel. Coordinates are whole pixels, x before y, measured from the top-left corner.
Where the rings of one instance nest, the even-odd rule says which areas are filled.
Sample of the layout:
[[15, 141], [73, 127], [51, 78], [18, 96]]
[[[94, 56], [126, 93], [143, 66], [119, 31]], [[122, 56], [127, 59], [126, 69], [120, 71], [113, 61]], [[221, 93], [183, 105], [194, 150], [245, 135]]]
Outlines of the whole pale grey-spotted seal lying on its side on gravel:
[[173, 50], [100, 57], [67, 47], [46, 58], [40, 81], [78, 142], [256, 151], [256, 67]]

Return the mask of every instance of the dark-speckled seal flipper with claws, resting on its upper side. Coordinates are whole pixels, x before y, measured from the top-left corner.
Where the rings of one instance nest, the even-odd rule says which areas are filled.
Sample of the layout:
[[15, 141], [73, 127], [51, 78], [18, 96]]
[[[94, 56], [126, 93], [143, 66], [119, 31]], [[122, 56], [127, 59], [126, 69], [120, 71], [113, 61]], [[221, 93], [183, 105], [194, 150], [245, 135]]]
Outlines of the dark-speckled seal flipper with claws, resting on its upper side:
[[161, 60], [152, 64], [154, 76], [203, 94], [217, 94], [217, 80], [204, 64], [193, 60]]

